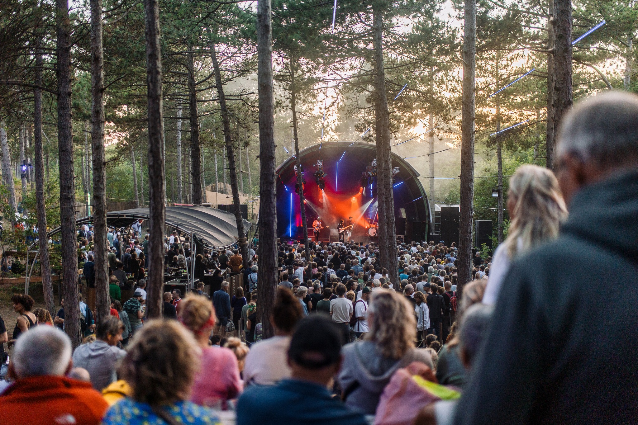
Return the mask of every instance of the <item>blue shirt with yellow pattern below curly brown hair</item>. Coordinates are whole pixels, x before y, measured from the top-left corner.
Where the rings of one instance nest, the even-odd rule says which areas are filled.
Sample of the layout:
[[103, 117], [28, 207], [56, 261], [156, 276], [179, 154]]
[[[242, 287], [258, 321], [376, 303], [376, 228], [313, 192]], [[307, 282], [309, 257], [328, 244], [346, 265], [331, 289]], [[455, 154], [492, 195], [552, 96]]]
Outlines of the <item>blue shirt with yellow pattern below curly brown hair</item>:
[[[211, 409], [201, 407], [190, 401], [164, 407], [175, 421], [193, 425], [219, 425], [218, 417]], [[138, 403], [131, 398], [122, 398], [112, 405], [102, 419], [102, 425], [166, 425], [166, 422], [152, 412], [149, 405]]]

